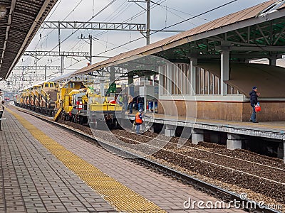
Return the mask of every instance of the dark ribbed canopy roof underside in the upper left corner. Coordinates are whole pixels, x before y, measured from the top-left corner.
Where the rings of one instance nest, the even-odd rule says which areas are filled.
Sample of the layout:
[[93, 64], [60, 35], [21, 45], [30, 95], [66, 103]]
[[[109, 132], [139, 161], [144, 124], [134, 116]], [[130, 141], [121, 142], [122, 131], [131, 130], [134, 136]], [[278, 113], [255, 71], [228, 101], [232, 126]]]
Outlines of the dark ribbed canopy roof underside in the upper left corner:
[[56, 1], [0, 1], [0, 80], [9, 77]]

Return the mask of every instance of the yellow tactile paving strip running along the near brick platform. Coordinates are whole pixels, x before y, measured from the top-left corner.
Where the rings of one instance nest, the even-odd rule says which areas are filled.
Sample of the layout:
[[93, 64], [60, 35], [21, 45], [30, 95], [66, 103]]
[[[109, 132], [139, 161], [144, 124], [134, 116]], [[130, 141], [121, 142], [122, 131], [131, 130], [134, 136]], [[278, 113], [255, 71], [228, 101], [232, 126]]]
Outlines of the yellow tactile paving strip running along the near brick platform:
[[48, 149], [48, 151], [53, 153], [53, 155], [55, 155], [58, 160], [61, 160], [68, 169], [76, 173], [81, 180], [98, 192], [98, 194], [100, 194], [104, 200], [109, 202], [116, 210], [120, 212], [165, 212], [165, 210], [161, 209], [153, 202], [150, 202], [145, 199], [145, 197], [142, 197], [117, 180], [106, 175], [86, 160], [83, 160], [71, 151], [68, 151], [19, 114], [14, 113], [10, 109], [7, 109], [7, 111], [15, 116], [33, 137]]

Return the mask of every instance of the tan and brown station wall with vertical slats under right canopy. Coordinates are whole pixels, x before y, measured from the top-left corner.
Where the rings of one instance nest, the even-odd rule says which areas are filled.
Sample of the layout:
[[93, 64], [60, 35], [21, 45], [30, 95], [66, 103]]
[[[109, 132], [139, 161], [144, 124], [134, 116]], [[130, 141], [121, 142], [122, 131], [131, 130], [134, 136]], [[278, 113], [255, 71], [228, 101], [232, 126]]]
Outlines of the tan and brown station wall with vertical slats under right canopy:
[[[195, 96], [190, 95], [190, 65], [162, 67], [158, 113], [197, 119], [249, 121], [252, 107], [249, 99], [227, 85], [227, 95], [220, 95], [220, 78], [197, 67]], [[182, 97], [182, 98], [181, 98]], [[261, 101], [258, 121], [285, 121], [285, 102]]]

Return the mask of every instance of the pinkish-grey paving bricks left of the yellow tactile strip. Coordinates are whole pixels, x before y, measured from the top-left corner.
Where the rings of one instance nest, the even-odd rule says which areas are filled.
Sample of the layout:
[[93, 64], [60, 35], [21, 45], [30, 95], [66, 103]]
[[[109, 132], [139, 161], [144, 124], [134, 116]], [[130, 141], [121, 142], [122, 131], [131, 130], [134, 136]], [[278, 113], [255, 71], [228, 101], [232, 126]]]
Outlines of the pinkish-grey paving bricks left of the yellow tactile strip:
[[116, 212], [14, 116], [7, 111], [4, 116], [4, 131], [0, 131], [0, 212]]

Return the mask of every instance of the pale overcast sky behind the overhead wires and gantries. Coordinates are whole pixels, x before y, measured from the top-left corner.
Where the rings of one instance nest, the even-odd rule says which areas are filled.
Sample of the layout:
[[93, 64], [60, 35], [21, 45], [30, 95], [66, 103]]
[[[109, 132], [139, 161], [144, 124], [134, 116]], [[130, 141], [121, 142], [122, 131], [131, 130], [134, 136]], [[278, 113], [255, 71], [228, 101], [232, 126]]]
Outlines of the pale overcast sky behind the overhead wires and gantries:
[[[127, 22], [127, 23], [145, 23], [146, 13], [142, 8], [146, 7], [145, 3], [133, 3], [128, 0], [115, 0], [113, 4], [103, 10], [98, 16], [93, 17], [101, 11], [105, 6], [110, 4], [112, 0], [58, 0], [58, 4], [53, 8], [46, 21], [95, 21], [95, 22]], [[135, 1], [135, 0], [129, 0]], [[137, 1], [137, 0], [136, 0]], [[170, 26], [174, 23], [183, 21], [192, 16], [214, 9], [230, 2], [230, 0], [153, 0], [150, 11], [150, 28], [158, 30]], [[207, 23], [216, 18], [220, 18], [229, 13], [234, 13], [250, 6], [260, 4], [264, 0], [237, 0], [232, 4], [223, 6], [220, 9], [193, 18], [190, 21], [179, 24], [167, 30], [186, 31], [195, 28], [203, 23]], [[138, 6], [138, 4], [140, 6]], [[139, 16], [138, 16], [139, 14]], [[137, 17], [138, 16], [138, 17]], [[93, 18], [92, 18], [93, 17]], [[73, 33], [73, 35], [71, 35]], [[128, 50], [133, 50], [145, 45], [146, 40], [142, 38], [138, 41], [131, 42], [142, 37], [139, 32], [133, 31], [87, 31], [87, 30], [62, 30], [61, 40], [70, 38], [61, 44], [63, 51], [89, 51], [87, 40], [80, 40], [78, 37], [93, 35], [93, 55], [114, 56]], [[162, 38], [167, 38], [175, 33], [155, 33], [151, 35], [150, 43]], [[121, 48], [118, 45], [129, 43]], [[58, 50], [58, 31], [57, 30], [40, 30], [33, 38], [27, 50]], [[115, 50], [110, 50], [116, 48]], [[78, 62], [78, 60], [82, 60]], [[103, 60], [102, 58], [93, 58], [93, 63]], [[65, 67], [67, 69], [80, 69], [87, 65], [88, 60], [83, 58], [71, 59], [66, 58]], [[43, 57], [38, 65], [60, 65], [60, 58]], [[35, 65], [35, 58], [28, 56], [23, 57], [18, 65]], [[65, 70], [70, 72], [71, 70]], [[14, 71], [14, 73], [16, 73]], [[43, 73], [43, 72], [38, 72]], [[48, 73], [51, 75], [51, 72]], [[55, 76], [55, 75], [53, 75]]]

